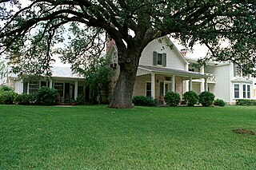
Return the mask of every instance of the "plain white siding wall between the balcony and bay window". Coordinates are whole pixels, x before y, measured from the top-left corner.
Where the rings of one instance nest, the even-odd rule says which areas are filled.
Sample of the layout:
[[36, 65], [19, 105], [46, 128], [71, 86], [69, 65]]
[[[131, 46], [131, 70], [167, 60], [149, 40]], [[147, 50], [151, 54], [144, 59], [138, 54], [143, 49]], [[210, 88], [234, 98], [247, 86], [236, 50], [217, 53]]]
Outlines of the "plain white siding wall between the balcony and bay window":
[[215, 99], [230, 102], [230, 65], [216, 67]]

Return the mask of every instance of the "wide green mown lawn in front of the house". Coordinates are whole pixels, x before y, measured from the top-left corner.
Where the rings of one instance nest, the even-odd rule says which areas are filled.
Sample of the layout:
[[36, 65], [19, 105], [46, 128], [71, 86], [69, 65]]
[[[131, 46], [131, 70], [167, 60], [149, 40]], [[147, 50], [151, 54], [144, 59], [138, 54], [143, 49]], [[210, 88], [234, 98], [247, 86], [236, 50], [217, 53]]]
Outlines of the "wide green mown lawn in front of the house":
[[254, 169], [256, 107], [0, 105], [0, 169]]

